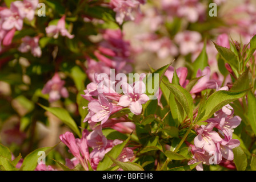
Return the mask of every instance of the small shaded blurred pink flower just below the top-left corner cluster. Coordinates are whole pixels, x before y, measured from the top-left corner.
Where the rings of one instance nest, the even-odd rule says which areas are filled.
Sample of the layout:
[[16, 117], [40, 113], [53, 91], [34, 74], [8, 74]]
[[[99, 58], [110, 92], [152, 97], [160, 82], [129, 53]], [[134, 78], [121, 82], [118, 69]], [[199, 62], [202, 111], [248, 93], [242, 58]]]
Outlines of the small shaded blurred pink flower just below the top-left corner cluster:
[[28, 52], [29, 50], [35, 57], [41, 57], [42, 50], [38, 45], [39, 37], [36, 36], [35, 38], [31, 38], [30, 36], [25, 36], [21, 39], [22, 43], [19, 46], [18, 50], [21, 52]]

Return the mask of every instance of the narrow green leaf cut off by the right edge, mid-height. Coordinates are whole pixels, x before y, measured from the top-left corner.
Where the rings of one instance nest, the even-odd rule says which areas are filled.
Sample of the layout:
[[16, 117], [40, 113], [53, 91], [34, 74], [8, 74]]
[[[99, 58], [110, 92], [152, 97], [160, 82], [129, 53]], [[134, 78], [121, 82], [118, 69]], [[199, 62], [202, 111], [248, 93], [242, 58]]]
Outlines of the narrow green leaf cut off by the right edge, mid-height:
[[256, 97], [251, 91], [248, 92], [247, 94], [247, 102], [248, 102], [247, 117], [251, 125], [251, 129], [253, 129], [254, 134], [256, 134]]

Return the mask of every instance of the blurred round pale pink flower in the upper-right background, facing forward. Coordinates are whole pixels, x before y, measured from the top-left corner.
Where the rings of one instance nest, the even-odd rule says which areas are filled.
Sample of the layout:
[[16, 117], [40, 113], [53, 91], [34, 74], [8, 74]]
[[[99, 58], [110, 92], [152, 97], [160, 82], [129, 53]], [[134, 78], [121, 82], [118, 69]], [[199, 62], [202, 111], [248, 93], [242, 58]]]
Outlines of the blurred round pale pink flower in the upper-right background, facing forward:
[[202, 36], [196, 31], [184, 31], [175, 35], [175, 42], [179, 44], [179, 51], [182, 55], [197, 51], [197, 45], [201, 42]]

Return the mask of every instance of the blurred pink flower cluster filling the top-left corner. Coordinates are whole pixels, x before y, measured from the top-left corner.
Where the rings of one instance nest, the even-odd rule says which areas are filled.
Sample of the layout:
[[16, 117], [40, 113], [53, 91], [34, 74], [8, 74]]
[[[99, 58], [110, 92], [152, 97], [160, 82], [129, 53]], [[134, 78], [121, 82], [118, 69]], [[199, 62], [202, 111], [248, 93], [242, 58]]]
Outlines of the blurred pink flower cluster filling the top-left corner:
[[0, 51], [1, 43], [9, 46], [16, 30], [23, 27], [23, 19], [33, 20], [38, 0], [24, 0], [11, 2], [10, 8], [0, 7]]

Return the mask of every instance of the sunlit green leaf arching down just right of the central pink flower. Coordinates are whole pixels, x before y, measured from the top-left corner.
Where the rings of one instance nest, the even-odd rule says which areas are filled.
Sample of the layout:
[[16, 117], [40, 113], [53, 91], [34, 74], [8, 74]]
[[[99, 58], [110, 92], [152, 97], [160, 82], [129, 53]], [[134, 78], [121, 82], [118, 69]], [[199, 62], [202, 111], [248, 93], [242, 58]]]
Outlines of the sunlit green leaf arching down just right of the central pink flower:
[[[186, 111], [188, 117], [193, 119], [193, 98], [191, 94], [182, 86], [176, 84], [166, 84], [167, 88], [174, 94], [178, 102], [183, 106], [183, 109]], [[171, 103], [170, 103], [171, 104]]]

